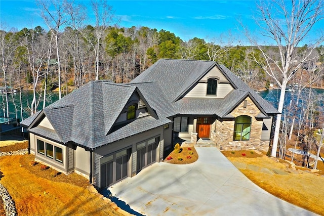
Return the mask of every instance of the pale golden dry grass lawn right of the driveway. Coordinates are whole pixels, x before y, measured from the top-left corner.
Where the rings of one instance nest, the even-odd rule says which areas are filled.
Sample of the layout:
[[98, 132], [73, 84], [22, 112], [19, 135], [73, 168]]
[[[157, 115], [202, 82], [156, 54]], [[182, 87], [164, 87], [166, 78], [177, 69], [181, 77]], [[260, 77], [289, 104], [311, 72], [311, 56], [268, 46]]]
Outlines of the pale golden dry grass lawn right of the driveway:
[[294, 170], [287, 161], [269, 158], [266, 155], [252, 158], [250, 157], [251, 154], [248, 153], [246, 153], [246, 156], [242, 156], [241, 151], [235, 151], [234, 155], [240, 155], [237, 157], [232, 156], [233, 154], [230, 151], [223, 151], [223, 153], [231, 162], [237, 161], [290, 172], [289, 175], [269, 175], [251, 169], [239, 169], [252, 182], [269, 193], [302, 208], [324, 215], [323, 172], [319, 172], [321, 174], [319, 175], [312, 173], [310, 169], [301, 167], [297, 167], [297, 170]]

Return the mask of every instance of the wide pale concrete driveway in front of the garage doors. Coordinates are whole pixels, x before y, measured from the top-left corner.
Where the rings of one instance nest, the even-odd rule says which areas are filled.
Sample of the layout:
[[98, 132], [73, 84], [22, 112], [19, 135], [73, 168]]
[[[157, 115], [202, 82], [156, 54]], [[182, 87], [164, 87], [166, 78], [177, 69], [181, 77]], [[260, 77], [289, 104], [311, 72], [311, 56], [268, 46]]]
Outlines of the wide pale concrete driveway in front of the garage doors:
[[316, 215], [256, 186], [216, 147], [196, 150], [194, 163], [154, 163], [107, 190], [144, 215]]

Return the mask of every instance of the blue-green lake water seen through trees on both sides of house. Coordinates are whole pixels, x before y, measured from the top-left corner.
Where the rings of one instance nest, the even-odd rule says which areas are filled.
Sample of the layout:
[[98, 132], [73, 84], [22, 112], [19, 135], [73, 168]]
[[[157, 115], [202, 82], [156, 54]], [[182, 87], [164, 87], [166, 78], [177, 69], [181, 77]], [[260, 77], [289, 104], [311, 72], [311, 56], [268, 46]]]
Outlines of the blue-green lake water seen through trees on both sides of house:
[[[308, 97], [308, 91], [309, 89], [306, 89], [302, 92], [303, 97]], [[321, 95], [322, 97], [324, 97], [324, 90], [320, 90], [320, 89], [311, 89], [311, 91], [313, 91], [313, 95]], [[265, 91], [261, 91], [259, 93], [259, 95], [264, 98], [265, 100], [267, 100], [268, 102], [270, 102], [274, 107], [277, 108], [278, 106], [278, 100], [279, 100], [279, 95], [280, 95], [280, 90], [265, 90]], [[10, 117], [11, 118], [16, 118], [16, 109], [14, 106], [13, 101], [15, 101], [15, 104], [17, 106], [17, 118], [21, 118], [20, 117], [20, 96], [19, 96], [19, 92], [15, 93], [15, 94], [10, 94], [9, 96], [9, 110], [10, 110]], [[285, 98], [285, 105], [286, 107], [289, 106], [290, 103], [290, 99], [292, 97], [292, 93], [291, 92], [286, 92], [286, 98]], [[294, 95], [295, 100], [296, 100], [296, 94]], [[56, 93], [51, 93], [50, 96], [48, 97], [47, 101], [46, 101], [46, 105], [50, 105], [52, 103], [54, 103], [55, 101], [58, 100], [58, 94]], [[43, 96], [42, 96], [43, 99]], [[37, 99], [38, 100], [38, 99]], [[323, 100], [323, 99], [322, 99]], [[28, 108], [28, 106], [30, 107], [30, 103], [32, 101], [32, 92], [31, 91], [22, 91], [22, 106], [23, 106], [23, 118], [27, 118], [28, 116], [30, 116], [30, 109]], [[321, 101], [321, 105], [323, 105], [323, 101]], [[0, 116], [4, 116], [4, 112], [3, 112], [3, 98], [0, 95]], [[38, 105], [38, 109], [37, 110], [41, 110], [43, 108], [43, 101], [39, 102]], [[21, 119], [20, 119], [21, 120]]]

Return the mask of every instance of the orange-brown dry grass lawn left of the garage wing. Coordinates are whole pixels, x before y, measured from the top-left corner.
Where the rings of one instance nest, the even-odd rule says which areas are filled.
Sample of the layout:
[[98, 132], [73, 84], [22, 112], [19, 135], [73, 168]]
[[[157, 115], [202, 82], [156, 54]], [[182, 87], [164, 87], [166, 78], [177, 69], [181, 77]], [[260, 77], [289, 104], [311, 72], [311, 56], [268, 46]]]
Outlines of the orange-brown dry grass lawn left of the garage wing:
[[30, 166], [33, 159], [33, 155], [0, 158], [0, 183], [15, 201], [18, 215], [122, 215], [86, 189], [86, 178], [77, 174], [52, 177], [51, 168], [41, 170], [39, 163]]

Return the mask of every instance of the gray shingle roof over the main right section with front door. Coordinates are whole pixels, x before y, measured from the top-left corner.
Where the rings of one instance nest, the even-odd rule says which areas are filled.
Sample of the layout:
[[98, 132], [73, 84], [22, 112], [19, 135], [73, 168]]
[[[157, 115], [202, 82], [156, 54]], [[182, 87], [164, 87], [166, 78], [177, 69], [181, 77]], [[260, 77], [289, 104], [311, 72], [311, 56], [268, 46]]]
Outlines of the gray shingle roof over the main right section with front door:
[[[190, 90], [213, 67], [218, 67], [232, 84], [234, 90], [229, 95], [225, 98], [217, 99], [181, 98], [186, 91]], [[158, 112], [166, 116], [175, 114], [216, 114], [225, 117], [247, 95], [250, 95], [265, 113], [278, 113], [271, 104], [250, 89], [248, 85], [224, 65], [218, 65], [213, 61], [160, 59], [137, 76], [130, 84], [135, 84], [140, 88], [141, 82], [146, 83], [145, 89], [141, 89], [145, 98], [149, 97], [150, 94], [154, 95], [152, 98], [155, 100], [151, 101], [152, 106], [156, 107]], [[158, 98], [160, 100], [156, 100]], [[169, 102], [168, 104], [167, 101]], [[167, 106], [162, 108], [161, 102], [164, 102], [164, 105]]]

